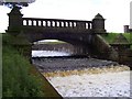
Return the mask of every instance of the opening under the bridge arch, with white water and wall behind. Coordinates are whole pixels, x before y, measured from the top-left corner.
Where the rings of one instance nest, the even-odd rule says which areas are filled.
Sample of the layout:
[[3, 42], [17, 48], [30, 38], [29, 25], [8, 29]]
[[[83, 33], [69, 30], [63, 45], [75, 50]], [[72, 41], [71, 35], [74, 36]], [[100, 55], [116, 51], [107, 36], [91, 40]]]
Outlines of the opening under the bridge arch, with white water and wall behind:
[[72, 44], [58, 40], [38, 41], [32, 45], [32, 57], [82, 57], [90, 54], [90, 48], [84, 47], [84, 44]]

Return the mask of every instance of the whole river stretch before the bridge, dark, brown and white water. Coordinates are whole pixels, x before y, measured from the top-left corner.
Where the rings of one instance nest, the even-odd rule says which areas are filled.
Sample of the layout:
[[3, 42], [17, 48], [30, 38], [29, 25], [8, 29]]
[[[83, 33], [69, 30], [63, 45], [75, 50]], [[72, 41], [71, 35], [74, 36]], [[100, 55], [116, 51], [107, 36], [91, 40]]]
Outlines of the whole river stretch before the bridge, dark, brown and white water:
[[[38, 54], [38, 53], [37, 53]], [[34, 53], [34, 56], [42, 56]], [[62, 97], [130, 97], [130, 68], [96, 58], [33, 58]]]

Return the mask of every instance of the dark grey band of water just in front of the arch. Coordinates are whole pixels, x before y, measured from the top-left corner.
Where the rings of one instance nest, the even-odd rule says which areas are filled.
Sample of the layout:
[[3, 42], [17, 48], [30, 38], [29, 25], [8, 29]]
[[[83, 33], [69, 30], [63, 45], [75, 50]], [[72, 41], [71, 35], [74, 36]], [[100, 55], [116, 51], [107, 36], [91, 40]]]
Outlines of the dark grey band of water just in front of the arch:
[[55, 72], [106, 67], [117, 65], [118, 63], [96, 58], [34, 58], [33, 64], [35, 64], [41, 72]]

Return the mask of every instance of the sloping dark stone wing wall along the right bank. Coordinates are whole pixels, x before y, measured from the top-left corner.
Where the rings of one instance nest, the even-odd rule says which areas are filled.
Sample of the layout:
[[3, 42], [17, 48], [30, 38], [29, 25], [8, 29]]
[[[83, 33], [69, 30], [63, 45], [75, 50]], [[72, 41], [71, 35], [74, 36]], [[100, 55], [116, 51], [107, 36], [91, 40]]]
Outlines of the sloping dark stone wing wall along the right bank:
[[92, 45], [95, 47], [95, 55], [97, 55], [98, 58], [116, 61], [121, 64], [129, 65], [132, 68], [132, 50], [124, 48], [117, 51], [100, 35], [94, 36]]

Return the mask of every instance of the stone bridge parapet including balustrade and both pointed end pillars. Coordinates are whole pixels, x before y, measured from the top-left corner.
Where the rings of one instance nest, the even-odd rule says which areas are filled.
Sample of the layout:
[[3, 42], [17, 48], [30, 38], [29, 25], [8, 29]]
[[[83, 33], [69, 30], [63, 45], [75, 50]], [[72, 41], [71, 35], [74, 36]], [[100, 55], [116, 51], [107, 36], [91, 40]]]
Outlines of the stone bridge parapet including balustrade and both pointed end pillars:
[[[34, 29], [35, 31], [56, 32], [59, 33], [106, 33], [105, 19], [101, 14], [97, 14], [92, 21], [82, 20], [63, 20], [63, 19], [36, 19], [36, 18], [22, 18], [20, 9], [14, 7], [9, 15], [9, 33], [18, 35], [22, 31]], [[46, 30], [45, 30], [46, 29]]]

